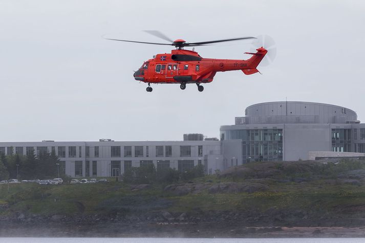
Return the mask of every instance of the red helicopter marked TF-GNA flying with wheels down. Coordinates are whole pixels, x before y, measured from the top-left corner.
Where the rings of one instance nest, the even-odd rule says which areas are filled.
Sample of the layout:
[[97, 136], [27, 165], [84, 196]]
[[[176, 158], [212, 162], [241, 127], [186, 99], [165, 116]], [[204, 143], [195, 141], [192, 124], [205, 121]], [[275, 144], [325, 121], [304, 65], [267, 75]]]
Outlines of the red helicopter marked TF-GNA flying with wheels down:
[[157, 54], [153, 59], [145, 61], [140, 69], [138, 69], [133, 77], [135, 80], [148, 83], [147, 92], [152, 92], [151, 83], [179, 83], [180, 89], [185, 90], [187, 83], [196, 83], [198, 90], [202, 92], [204, 87], [202, 83], [210, 83], [213, 81], [217, 72], [225, 72], [232, 70], [241, 70], [244, 74], [250, 75], [259, 72], [257, 65], [268, 52], [262, 46], [256, 49], [256, 52], [245, 52], [251, 54], [252, 57], [247, 60], [231, 60], [231, 59], [212, 59], [203, 58], [193, 50], [184, 50], [184, 47], [206, 46], [211, 43], [256, 39], [255, 37], [240, 37], [232, 39], [212, 40], [203, 42], [188, 43], [183, 39], [175, 41], [170, 40], [159, 31], [145, 31], [149, 34], [160, 37], [171, 43], [154, 43], [133, 40], [110, 39], [126, 42], [145, 43], [152, 45], [175, 46], [176, 50], [171, 53]]

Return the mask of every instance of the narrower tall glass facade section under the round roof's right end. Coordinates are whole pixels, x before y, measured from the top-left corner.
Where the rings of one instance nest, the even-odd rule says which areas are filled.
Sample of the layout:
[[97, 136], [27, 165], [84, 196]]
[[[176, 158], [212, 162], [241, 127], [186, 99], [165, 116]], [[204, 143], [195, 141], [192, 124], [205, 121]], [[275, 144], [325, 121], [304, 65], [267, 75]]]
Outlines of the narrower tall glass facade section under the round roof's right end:
[[351, 152], [351, 129], [332, 129], [333, 152]]

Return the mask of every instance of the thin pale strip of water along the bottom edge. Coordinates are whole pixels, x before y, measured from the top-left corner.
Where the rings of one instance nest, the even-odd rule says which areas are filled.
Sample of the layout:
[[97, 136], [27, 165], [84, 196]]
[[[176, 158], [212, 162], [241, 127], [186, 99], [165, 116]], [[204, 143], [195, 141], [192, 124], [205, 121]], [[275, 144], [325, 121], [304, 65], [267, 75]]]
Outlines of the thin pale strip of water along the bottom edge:
[[1, 238], [2, 243], [363, 243], [365, 238]]

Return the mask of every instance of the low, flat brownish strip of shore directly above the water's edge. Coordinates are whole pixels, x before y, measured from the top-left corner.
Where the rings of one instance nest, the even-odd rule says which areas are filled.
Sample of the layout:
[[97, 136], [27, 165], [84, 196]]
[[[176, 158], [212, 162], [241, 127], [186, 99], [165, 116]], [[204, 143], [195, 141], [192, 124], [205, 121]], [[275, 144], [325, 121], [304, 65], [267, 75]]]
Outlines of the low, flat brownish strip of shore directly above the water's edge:
[[[172, 237], [171, 237], [172, 236]], [[249, 227], [177, 223], [2, 224], [0, 237], [359, 238], [365, 227]]]

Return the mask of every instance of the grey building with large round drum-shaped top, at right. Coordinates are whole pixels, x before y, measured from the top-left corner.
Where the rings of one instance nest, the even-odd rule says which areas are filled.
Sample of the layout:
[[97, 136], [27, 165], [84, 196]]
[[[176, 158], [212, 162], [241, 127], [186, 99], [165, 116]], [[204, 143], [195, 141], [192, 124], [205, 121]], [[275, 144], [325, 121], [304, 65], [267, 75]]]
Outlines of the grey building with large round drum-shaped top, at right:
[[254, 104], [220, 131], [221, 140], [242, 140], [242, 163], [305, 160], [309, 151], [365, 152], [364, 124], [351, 109], [332, 104]]

